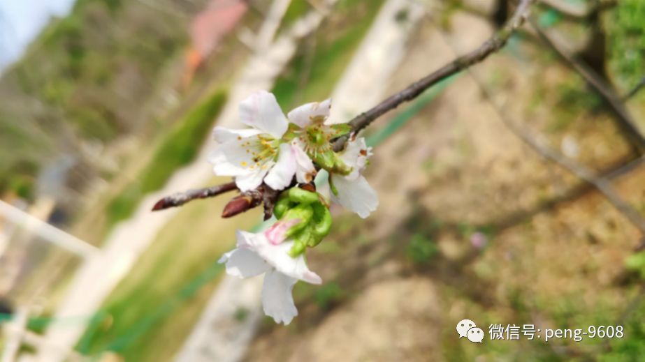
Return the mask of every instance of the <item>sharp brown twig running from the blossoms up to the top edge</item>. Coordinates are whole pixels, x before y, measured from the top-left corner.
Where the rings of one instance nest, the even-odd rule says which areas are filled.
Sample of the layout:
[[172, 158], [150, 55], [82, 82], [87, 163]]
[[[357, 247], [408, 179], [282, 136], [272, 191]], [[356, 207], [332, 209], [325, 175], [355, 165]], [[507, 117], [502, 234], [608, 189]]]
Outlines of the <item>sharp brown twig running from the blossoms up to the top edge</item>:
[[[359, 130], [362, 130], [363, 128], [369, 126], [370, 123], [372, 123], [372, 121], [377, 119], [379, 116], [382, 116], [386, 112], [395, 109], [399, 105], [405, 102], [409, 102], [410, 100], [418, 97], [421, 93], [423, 93], [423, 91], [426, 91], [426, 89], [430, 88], [430, 86], [433, 86], [438, 82], [446, 79], [447, 77], [461, 72], [464, 69], [470, 68], [470, 66], [483, 61], [489, 55], [502, 49], [502, 47], [506, 45], [508, 39], [514, 33], [514, 31], [516, 31], [516, 29], [518, 29], [521, 24], [523, 24], [524, 20], [526, 20], [529, 5], [533, 1], [534, 0], [521, 0], [515, 10], [515, 13], [506, 22], [505, 26], [495, 34], [493, 34], [491, 38], [486, 40], [486, 42], [476, 50], [473, 50], [472, 52], [463, 56], [459, 56], [457, 59], [454, 59], [454, 61], [451, 61], [445, 66], [442, 66], [442, 68], [439, 68], [433, 73], [426, 75], [426, 77], [421, 78], [421, 80], [417, 80], [416, 82], [410, 84], [402, 91], [389, 96], [389, 98], [386, 98], [386, 100], [383, 100], [381, 103], [368, 110], [367, 112], [363, 112], [354, 117], [354, 119], [349, 121], [349, 126], [352, 126], [352, 132], [357, 133]], [[340, 151], [343, 146], [345, 146], [345, 142], [347, 142], [348, 138], [349, 135], [339, 137], [334, 143], [334, 150]]]

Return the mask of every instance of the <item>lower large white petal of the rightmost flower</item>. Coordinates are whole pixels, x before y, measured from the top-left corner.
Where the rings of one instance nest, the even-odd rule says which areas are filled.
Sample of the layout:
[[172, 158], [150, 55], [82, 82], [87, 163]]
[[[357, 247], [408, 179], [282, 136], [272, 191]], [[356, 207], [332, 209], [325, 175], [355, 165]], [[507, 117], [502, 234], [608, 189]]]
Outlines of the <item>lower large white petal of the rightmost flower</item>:
[[338, 195], [331, 195], [334, 202], [367, 218], [379, 206], [379, 197], [363, 176], [349, 180], [342, 176], [332, 177], [333, 186], [338, 190]]

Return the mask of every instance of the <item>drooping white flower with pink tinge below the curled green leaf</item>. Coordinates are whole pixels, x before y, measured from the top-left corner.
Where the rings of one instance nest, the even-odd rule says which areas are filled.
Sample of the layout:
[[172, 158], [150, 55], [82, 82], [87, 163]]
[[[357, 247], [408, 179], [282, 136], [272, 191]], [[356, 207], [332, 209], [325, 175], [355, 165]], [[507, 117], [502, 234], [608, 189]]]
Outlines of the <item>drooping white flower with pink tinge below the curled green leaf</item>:
[[[291, 257], [293, 241], [284, 240], [289, 225], [277, 223], [266, 232], [253, 234], [238, 230], [238, 247], [219, 259], [226, 263], [226, 273], [238, 278], [250, 278], [264, 273], [262, 307], [276, 323], [289, 324], [298, 310], [291, 290], [298, 280], [320, 284], [321, 278], [307, 268], [305, 257]], [[270, 239], [268, 236], [271, 236]]]

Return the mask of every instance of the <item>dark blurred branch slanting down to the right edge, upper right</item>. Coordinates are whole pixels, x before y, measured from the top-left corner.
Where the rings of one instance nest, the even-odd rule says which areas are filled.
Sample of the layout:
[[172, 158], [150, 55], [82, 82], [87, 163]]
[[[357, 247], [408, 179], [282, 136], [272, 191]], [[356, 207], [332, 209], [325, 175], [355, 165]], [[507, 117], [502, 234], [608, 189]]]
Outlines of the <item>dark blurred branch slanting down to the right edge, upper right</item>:
[[623, 130], [623, 134], [630, 139], [631, 143], [637, 148], [639, 153], [645, 153], [645, 137], [640, 133], [631, 114], [623, 105], [621, 98], [616, 96], [616, 93], [611, 89], [611, 86], [604, 82], [602, 77], [597, 75], [592, 69], [588, 68], [588, 66], [578, 59], [575, 59], [574, 56], [564, 50], [563, 46], [559, 45], [550, 36], [548, 36], [537, 25], [535, 20], [529, 17], [528, 22], [539, 38], [541, 38], [546, 45], [551, 47], [551, 49], [560, 56], [560, 59], [562, 59], [567, 66], [577, 71], [577, 73], [579, 73], [584, 80], [590, 84], [590, 86], [592, 86], [600, 96], [602, 96], [607, 105], [609, 105], [614, 116], [616, 116], [616, 121], [618, 121], [618, 126]]

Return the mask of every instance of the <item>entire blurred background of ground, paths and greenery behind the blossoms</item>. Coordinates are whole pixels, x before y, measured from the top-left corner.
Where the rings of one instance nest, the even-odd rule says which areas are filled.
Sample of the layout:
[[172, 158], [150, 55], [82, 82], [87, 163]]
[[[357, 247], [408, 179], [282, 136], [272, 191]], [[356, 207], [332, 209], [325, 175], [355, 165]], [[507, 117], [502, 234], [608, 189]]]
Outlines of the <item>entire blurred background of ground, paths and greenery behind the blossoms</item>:
[[[150, 212], [229, 181], [210, 132], [240, 127], [253, 91], [284, 112], [332, 96], [350, 119], [479, 47], [513, 3], [0, 1], [1, 361], [642, 361], [642, 0], [537, 1], [539, 31], [377, 119], [379, 209], [332, 209], [307, 254], [324, 284], [296, 285], [289, 326], [261, 313], [261, 280], [217, 264], [259, 210]], [[490, 340], [492, 324], [624, 337]]]

